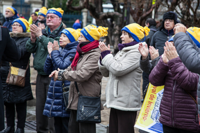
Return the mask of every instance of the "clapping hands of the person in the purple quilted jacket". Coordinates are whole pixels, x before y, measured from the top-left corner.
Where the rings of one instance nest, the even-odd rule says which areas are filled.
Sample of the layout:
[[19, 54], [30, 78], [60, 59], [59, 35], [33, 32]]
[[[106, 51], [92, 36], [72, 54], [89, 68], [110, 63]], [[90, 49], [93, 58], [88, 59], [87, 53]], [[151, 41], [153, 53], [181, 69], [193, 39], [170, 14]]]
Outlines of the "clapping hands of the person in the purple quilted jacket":
[[176, 48], [174, 47], [173, 43], [171, 42], [165, 42], [164, 50], [166, 53], [166, 57], [168, 60], [172, 60], [174, 58], [178, 57], [178, 53], [176, 51]]

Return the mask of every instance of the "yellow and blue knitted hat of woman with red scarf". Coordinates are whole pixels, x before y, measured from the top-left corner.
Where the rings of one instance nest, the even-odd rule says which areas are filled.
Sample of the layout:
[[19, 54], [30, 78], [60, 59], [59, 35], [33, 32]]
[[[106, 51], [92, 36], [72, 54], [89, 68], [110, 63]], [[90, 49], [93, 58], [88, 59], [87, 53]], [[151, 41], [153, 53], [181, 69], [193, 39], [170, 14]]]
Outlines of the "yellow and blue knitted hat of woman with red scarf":
[[100, 37], [107, 36], [107, 30], [107, 27], [88, 25], [81, 30], [81, 33], [85, 36], [87, 40], [93, 42], [94, 40], [99, 40]]

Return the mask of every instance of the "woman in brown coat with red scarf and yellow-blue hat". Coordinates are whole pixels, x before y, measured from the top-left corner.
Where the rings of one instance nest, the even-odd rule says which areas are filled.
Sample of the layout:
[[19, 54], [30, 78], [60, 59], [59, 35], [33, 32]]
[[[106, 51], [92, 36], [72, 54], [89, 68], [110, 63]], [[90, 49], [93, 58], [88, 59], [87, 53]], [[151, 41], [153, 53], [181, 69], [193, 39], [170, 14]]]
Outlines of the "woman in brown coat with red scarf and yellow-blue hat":
[[[79, 45], [70, 67], [65, 70], [54, 71], [50, 77], [59, 80], [73, 81], [70, 83], [68, 109], [70, 109], [69, 133], [95, 133], [95, 123], [77, 122], [78, 96], [99, 97], [101, 92], [101, 78], [98, 60], [100, 57], [99, 38], [107, 35], [105, 27], [89, 25], [81, 30]], [[77, 92], [77, 88], [79, 93]], [[94, 103], [95, 104], [95, 103]], [[95, 108], [101, 109], [101, 104], [96, 103]], [[85, 107], [87, 109], [87, 107]], [[92, 111], [92, 110], [90, 110]], [[99, 114], [100, 115], [100, 114]], [[99, 118], [94, 116], [92, 118]]]

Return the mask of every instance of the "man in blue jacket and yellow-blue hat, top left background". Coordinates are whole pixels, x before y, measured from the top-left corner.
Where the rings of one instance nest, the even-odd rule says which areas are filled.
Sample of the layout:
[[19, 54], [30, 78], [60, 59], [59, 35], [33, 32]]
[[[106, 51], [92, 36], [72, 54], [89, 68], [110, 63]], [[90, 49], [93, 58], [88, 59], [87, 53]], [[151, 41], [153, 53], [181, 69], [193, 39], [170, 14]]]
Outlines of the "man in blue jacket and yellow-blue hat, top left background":
[[9, 31], [12, 31], [12, 22], [13, 20], [15, 20], [16, 18], [18, 18], [17, 16], [17, 10], [14, 7], [7, 7], [6, 8], [6, 13], [5, 13], [5, 18], [6, 21], [4, 22], [3, 26], [7, 27], [9, 29]]

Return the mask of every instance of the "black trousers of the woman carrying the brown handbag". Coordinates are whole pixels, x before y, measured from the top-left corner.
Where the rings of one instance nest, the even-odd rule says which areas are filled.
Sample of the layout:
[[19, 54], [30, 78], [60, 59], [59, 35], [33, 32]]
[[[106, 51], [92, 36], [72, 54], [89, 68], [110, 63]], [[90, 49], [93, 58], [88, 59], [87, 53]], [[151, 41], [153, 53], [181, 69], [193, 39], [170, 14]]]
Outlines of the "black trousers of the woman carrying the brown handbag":
[[26, 122], [26, 101], [23, 103], [4, 103], [6, 107], [7, 127], [15, 126], [15, 107], [17, 111], [17, 127], [23, 129]]

